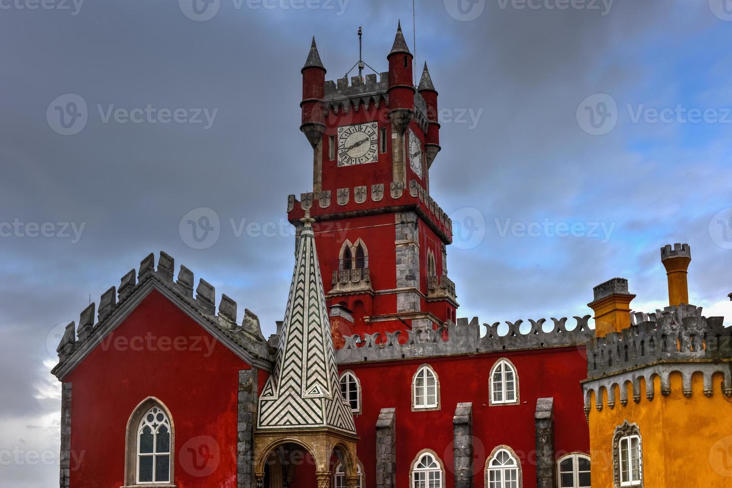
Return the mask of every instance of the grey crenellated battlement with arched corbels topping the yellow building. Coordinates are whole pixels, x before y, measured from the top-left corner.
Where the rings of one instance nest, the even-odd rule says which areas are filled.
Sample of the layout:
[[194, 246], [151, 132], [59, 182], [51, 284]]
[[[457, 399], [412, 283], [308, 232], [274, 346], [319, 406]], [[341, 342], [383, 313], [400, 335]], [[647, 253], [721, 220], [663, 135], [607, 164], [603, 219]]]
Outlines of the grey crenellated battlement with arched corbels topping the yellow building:
[[701, 307], [687, 304], [654, 313], [633, 312], [630, 329], [589, 341], [588, 379], [583, 383], [586, 413], [592, 396], [597, 410], [615, 408], [618, 400], [627, 405], [628, 384], [632, 385], [634, 402], [640, 402], [643, 393], [654, 399], [654, 378], [660, 381], [660, 393], [668, 396], [674, 373], [681, 375], [685, 397], [692, 396], [694, 375], [702, 376], [703, 393], [712, 397], [712, 378], [717, 374], [724, 378], [722, 392], [732, 397], [728, 362], [732, 359], [732, 327], [725, 328], [722, 317], [706, 318], [701, 312]]

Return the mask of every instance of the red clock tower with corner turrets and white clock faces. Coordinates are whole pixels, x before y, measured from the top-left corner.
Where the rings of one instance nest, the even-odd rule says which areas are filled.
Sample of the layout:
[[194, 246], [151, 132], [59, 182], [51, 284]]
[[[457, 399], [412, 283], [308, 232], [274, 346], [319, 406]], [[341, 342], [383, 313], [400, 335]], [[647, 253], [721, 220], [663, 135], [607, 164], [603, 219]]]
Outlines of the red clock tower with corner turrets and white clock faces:
[[355, 334], [436, 329], [458, 307], [447, 277], [452, 223], [430, 197], [437, 91], [427, 64], [415, 88], [401, 26], [386, 59], [378, 80], [326, 81], [313, 39], [302, 68], [313, 192], [290, 195], [288, 219], [298, 230], [306, 210], [315, 219], [328, 306], [353, 319]]

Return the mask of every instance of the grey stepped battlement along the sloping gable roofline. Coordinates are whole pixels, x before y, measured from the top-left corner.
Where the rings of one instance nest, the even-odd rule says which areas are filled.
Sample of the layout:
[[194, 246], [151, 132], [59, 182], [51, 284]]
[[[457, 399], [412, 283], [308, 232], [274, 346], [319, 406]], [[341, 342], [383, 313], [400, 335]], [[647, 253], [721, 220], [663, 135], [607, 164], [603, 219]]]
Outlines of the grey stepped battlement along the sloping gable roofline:
[[111, 287], [100, 297], [99, 312], [94, 317], [95, 303], [83, 309], [79, 325], [75, 322], [66, 326], [56, 352], [59, 364], [51, 371], [63, 378], [75, 364], [91, 352], [101, 340], [127, 318], [142, 299], [153, 288], [179, 301], [189, 315], [198, 318], [204, 328], [230, 348], [239, 350], [247, 360], [263, 365], [269, 364], [269, 346], [261, 333], [259, 319], [249, 309], [244, 309], [242, 323], [237, 323], [236, 301], [222, 295], [216, 312], [216, 290], [205, 279], [199, 279], [193, 296], [193, 271], [180, 266], [178, 279], [173, 280], [174, 260], [167, 253], [160, 252], [155, 269], [154, 254], [147, 255], [140, 263], [139, 271], [128, 271], [120, 279], [119, 289]]

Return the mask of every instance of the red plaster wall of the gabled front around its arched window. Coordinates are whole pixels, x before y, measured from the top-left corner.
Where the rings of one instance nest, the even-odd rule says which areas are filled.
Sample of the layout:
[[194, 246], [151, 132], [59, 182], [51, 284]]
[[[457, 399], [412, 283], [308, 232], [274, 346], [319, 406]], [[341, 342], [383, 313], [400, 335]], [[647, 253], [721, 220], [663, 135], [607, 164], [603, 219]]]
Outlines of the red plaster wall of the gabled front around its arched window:
[[[97, 346], [67, 378], [72, 382], [71, 448], [75, 456], [83, 456], [72, 470], [71, 486], [117, 488], [124, 484], [127, 421], [143, 399], [157, 397], [171, 411], [175, 424], [177, 486], [236, 488], [239, 370], [250, 367], [154, 290], [111, 337], [132, 339], [148, 333], [158, 339], [181, 338], [187, 347], [179, 342], [179, 347], [172, 348], [156, 340], [154, 348], [145, 345], [144, 350], [135, 351], [109, 342], [107, 350], [103, 344]], [[213, 347], [207, 348], [201, 339]], [[197, 340], [201, 340], [201, 350], [196, 350]], [[209, 465], [197, 470], [187, 448], [198, 450], [202, 444], [212, 454], [219, 452], [209, 459]], [[213, 473], [201, 476], [215, 463], [218, 467]]]

